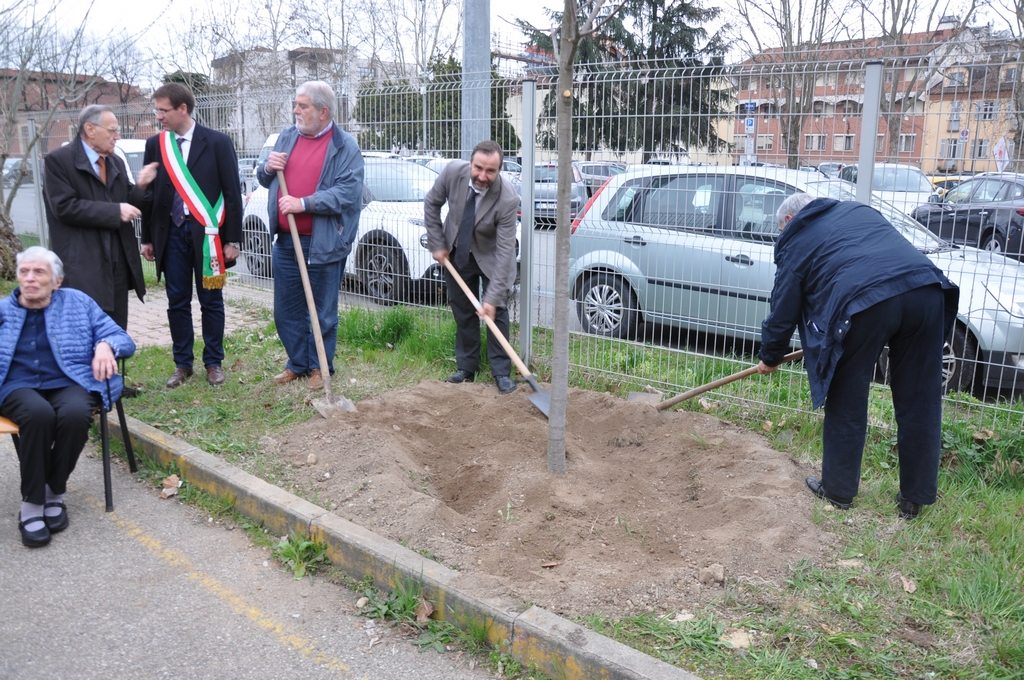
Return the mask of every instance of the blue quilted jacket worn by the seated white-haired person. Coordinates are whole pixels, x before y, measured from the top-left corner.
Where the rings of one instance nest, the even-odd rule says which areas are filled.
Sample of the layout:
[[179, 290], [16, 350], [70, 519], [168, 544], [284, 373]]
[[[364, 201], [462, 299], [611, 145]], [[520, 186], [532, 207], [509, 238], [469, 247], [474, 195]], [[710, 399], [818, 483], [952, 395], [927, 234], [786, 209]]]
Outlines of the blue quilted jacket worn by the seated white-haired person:
[[[18, 289], [15, 288], [10, 297], [0, 300], [0, 403], [11, 391], [10, 386], [4, 383], [27, 313], [25, 307], [17, 303], [17, 295]], [[114, 348], [114, 355], [118, 358], [131, 356], [135, 353], [131, 336], [115, 324], [92, 298], [70, 288], [53, 291], [53, 298], [43, 315], [57, 366], [85, 389], [98, 392], [103, 398], [103, 407], [110, 411], [106, 384], [92, 375], [92, 355], [96, 345], [105, 342]], [[111, 378], [111, 398], [117, 401], [123, 387], [120, 375]]]

